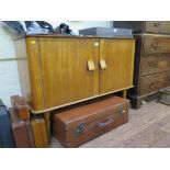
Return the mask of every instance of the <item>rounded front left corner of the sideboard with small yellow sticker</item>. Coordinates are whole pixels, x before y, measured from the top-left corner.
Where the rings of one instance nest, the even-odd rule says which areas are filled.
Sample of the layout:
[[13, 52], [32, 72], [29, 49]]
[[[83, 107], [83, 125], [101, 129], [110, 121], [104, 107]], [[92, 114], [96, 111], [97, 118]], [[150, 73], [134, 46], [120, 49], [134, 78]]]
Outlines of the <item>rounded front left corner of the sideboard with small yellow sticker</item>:
[[35, 111], [44, 109], [42, 71], [36, 37], [26, 38], [27, 63], [31, 79], [31, 104]]

